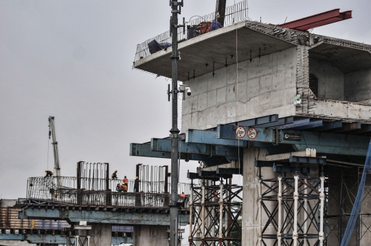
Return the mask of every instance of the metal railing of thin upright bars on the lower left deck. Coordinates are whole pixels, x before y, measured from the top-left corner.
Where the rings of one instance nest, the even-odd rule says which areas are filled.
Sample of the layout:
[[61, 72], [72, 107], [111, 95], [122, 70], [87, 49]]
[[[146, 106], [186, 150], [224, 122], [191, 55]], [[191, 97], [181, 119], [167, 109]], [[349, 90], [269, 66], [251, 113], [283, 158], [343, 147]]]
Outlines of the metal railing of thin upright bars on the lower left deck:
[[[78, 187], [78, 181], [80, 187]], [[60, 186], [56, 185], [57, 182]], [[117, 182], [122, 183], [119, 179], [30, 177], [27, 181], [27, 199], [58, 201], [76, 205], [168, 206], [170, 194], [164, 192], [163, 181], [140, 183], [139, 192], [133, 192], [133, 180], [128, 182], [128, 192], [117, 192], [115, 190]], [[168, 186], [168, 190], [170, 190], [170, 183]], [[179, 194], [181, 192], [190, 194], [190, 185], [179, 183], [178, 190]]]

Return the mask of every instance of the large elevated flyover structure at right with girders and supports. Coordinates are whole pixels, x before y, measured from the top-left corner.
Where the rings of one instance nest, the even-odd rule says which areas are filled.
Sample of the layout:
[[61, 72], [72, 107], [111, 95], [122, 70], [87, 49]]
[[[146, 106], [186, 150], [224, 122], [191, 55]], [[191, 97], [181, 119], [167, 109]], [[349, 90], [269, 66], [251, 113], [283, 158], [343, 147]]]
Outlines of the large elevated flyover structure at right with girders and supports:
[[[371, 45], [250, 21], [242, 4], [220, 29], [203, 32], [207, 16], [179, 29], [179, 80], [192, 90], [179, 159], [202, 161], [201, 180], [243, 175], [243, 245], [340, 245], [370, 143]], [[150, 49], [153, 40], [166, 33], [137, 46], [134, 67], [171, 78], [171, 47]], [[170, 150], [168, 137], [130, 146], [132, 156]], [[369, 180], [361, 192], [350, 245], [371, 236]], [[229, 243], [190, 222], [199, 232], [190, 244]]]

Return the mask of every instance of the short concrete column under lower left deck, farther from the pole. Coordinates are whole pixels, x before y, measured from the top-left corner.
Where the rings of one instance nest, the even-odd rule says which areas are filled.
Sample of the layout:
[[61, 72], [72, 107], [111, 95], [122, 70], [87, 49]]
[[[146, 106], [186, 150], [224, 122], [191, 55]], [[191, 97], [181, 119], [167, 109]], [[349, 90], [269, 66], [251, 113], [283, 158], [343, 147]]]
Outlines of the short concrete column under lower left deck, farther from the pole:
[[91, 238], [89, 246], [111, 246], [112, 225], [98, 224], [91, 225]]

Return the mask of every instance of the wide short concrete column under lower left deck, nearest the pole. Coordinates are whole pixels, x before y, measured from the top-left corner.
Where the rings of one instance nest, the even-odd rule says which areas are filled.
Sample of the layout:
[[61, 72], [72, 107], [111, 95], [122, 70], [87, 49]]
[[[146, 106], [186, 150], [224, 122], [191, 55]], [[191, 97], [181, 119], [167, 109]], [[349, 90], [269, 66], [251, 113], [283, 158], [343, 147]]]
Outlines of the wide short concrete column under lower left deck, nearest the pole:
[[134, 246], [166, 246], [168, 245], [168, 226], [136, 225], [133, 232]]

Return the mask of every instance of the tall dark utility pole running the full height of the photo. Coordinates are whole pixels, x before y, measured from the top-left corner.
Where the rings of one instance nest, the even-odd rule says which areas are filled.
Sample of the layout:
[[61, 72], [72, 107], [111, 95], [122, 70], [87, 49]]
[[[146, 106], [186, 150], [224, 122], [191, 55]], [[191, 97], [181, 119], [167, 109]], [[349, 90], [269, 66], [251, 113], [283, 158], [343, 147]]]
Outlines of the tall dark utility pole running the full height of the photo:
[[[172, 87], [168, 93], [172, 95], [172, 128], [170, 130], [171, 138], [171, 193], [170, 193], [170, 246], [178, 246], [178, 70], [177, 63], [178, 55], [178, 14], [181, 13], [183, 0], [181, 2], [170, 0], [172, 16], [170, 18], [170, 35], [172, 36], [172, 54], [170, 56], [172, 62]], [[179, 9], [178, 9], [179, 7]], [[184, 21], [183, 21], [184, 22]], [[184, 23], [183, 23], [184, 32]], [[170, 95], [169, 95], [170, 97]]]

